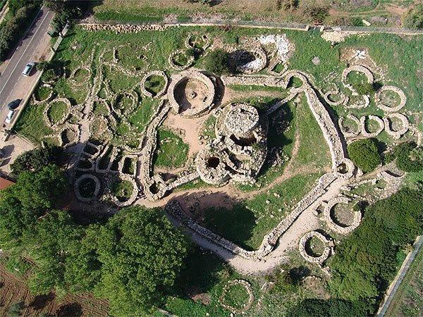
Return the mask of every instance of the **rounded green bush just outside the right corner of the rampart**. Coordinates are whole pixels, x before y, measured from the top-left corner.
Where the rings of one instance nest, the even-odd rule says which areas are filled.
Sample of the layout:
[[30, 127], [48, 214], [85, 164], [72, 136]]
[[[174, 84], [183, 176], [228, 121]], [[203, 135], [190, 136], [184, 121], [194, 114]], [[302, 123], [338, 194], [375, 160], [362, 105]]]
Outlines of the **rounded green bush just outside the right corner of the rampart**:
[[374, 170], [382, 162], [375, 139], [359, 139], [349, 144], [348, 155], [364, 173]]

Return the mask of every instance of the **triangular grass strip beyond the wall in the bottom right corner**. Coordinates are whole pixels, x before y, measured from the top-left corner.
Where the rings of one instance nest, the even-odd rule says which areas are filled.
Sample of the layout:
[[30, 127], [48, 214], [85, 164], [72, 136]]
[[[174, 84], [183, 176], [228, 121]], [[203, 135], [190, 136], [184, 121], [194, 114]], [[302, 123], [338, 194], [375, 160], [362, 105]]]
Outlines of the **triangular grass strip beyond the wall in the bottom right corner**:
[[421, 316], [423, 309], [423, 251], [419, 250], [393, 297], [386, 316]]

